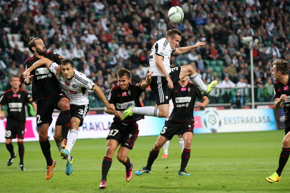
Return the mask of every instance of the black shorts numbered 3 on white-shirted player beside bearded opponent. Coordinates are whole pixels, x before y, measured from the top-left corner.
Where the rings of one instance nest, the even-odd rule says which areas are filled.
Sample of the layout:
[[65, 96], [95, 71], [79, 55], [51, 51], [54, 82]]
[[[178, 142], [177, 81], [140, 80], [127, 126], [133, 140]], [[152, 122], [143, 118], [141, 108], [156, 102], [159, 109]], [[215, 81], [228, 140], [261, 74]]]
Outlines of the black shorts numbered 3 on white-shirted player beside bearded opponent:
[[[80, 125], [79, 127], [81, 127], [83, 125], [84, 119], [89, 111], [89, 104], [84, 104], [84, 105], [74, 105], [71, 104], [70, 105], [70, 114], [71, 114], [71, 118], [79, 118], [80, 120]], [[55, 122], [55, 125], [61, 125], [61, 114], [59, 113], [57, 120]]]

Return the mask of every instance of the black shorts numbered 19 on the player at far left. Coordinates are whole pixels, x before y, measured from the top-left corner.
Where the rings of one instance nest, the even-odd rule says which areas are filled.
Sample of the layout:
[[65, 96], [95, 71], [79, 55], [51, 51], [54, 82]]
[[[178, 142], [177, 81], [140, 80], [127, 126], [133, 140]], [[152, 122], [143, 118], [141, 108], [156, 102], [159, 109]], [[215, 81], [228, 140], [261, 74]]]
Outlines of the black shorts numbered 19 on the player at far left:
[[24, 130], [25, 130], [24, 122], [18, 122], [16, 120], [7, 118], [5, 131], [6, 139], [15, 139], [16, 135], [18, 139], [24, 139]]

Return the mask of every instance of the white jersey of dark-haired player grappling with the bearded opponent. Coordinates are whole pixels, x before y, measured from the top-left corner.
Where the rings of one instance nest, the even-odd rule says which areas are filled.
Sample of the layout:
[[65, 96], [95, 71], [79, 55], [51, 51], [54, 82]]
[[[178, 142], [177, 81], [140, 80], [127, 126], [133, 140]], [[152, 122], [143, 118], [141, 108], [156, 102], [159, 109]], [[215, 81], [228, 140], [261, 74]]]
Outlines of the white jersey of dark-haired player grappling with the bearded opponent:
[[[49, 69], [54, 74], [58, 64], [53, 62]], [[88, 89], [92, 90], [94, 83], [87, 78], [87, 76], [78, 70], [75, 70], [73, 78], [70, 80], [65, 79], [62, 73], [58, 74], [57, 80], [60, 83], [61, 89], [65, 95], [69, 98], [69, 103], [74, 105], [89, 104]]]

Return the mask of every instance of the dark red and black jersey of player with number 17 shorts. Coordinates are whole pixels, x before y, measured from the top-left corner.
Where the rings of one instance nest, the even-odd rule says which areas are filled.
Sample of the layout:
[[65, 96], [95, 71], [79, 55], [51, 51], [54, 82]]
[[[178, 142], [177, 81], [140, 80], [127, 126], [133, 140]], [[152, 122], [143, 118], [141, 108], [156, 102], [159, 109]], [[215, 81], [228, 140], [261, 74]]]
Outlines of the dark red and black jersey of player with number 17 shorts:
[[[116, 86], [111, 89], [108, 95], [108, 102], [115, 105], [116, 110], [123, 112], [127, 106], [132, 103], [135, 106], [141, 107], [139, 97], [144, 91], [140, 88], [139, 83], [133, 83], [129, 85], [127, 91], [122, 91], [120, 86]], [[124, 121], [135, 122], [140, 119], [144, 119], [144, 115], [134, 114], [127, 117]], [[121, 121], [118, 117], [114, 117], [114, 121]]]

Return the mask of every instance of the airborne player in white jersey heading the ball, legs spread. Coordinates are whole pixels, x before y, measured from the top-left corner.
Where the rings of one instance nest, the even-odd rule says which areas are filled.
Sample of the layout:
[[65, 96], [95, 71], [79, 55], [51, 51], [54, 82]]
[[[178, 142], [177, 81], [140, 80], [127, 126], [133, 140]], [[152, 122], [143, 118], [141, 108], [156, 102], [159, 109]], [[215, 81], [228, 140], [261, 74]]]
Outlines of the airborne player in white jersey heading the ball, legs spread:
[[217, 81], [205, 85], [200, 77], [197, 75], [192, 65], [185, 65], [170, 68], [170, 56], [185, 54], [200, 46], [206, 45], [199, 42], [193, 46], [186, 46], [177, 48], [181, 41], [181, 32], [177, 29], [169, 29], [166, 37], [158, 40], [152, 47], [150, 52], [150, 72], [154, 72], [151, 81], [151, 90], [154, 93], [158, 108], [155, 107], [135, 107], [129, 106], [123, 112], [123, 119], [132, 114], [144, 114], [154, 117], [166, 118], [169, 112], [169, 91], [173, 89], [176, 84], [184, 76], [189, 75], [190, 80], [201, 90], [204, 95], [216, 87]]

